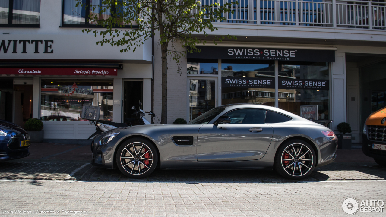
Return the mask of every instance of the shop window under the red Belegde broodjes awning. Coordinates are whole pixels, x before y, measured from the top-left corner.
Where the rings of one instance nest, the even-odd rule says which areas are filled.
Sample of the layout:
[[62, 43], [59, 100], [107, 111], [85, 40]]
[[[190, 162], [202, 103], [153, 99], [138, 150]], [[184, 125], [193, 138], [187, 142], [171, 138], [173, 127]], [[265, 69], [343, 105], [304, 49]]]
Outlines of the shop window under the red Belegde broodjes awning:
[[41, 120], [83, 120], [83, 105], [101, 107], [100, 120], [113, 120], [113, 80], [42, 79]]

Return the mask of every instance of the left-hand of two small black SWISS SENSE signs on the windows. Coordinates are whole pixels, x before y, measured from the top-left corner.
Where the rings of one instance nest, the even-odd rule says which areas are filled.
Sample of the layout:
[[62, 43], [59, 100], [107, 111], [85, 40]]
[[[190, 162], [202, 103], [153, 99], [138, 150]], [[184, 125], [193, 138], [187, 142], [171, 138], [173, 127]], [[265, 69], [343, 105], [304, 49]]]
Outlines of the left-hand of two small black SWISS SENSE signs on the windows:
[[275, 88], [274, 78], [246, 78], [246, 77], [222, 77], [222, 88], [245, 87], [245, 88]]

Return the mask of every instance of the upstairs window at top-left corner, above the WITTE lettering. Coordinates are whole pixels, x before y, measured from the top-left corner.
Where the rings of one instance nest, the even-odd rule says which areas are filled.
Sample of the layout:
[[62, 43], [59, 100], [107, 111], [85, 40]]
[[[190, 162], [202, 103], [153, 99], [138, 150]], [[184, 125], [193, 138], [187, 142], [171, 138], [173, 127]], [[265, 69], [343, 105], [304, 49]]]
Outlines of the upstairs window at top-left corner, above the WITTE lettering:
[[0, 25], [39, 27], [40, 0], [0, 1]]

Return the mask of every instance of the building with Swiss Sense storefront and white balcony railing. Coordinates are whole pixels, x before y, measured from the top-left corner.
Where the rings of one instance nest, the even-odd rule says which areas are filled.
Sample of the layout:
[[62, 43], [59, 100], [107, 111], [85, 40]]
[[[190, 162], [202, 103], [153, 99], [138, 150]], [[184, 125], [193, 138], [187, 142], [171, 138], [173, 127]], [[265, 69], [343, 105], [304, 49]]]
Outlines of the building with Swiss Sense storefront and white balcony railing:
[[[361, 142], [367, 116], [386, 106], [385, 6], [376, 0], [239, 1], [234, 14], [224, 14], [228, 20], [215, 23], [218, 31], [205, 37], [201, 53], [181, 60], [186, 73], [168, 64], [168, 123], [219, 105], [257, 103], [334, 120], [336, 132], [348, 122], [352, 142]], [[210, 42], [228, 34], [237, 40]], [[159, 49], [154, 55], [160, 114]]]

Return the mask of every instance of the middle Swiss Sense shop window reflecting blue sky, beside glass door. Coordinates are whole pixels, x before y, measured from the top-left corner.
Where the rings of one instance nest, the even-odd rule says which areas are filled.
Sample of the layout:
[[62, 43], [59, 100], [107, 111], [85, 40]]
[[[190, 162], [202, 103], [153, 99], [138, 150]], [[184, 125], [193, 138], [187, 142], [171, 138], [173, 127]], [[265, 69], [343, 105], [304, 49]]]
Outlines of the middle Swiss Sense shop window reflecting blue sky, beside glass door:
[[252, 103], [274, 106], [273, 61], [222, 60], [222, 105]]

